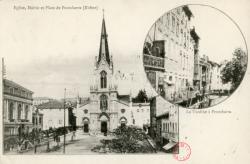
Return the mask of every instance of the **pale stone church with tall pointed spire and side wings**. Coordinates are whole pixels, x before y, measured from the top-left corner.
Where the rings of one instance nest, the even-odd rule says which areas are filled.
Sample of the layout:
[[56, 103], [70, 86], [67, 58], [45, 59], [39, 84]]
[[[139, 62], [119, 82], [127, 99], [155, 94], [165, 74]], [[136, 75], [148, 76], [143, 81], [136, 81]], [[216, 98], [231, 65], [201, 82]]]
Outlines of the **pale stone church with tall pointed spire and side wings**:
[[[130, 95], [118, 93], [104, 17], [99, 54], [95, 58], [93, 74], [89, 99], [77, 103], [75, 114], [78, 127], [82, 127], [85, 133], [105, 134], [118, 126], [138, 125], [142, 127], [142, 124], [149, 124], [149, 103], [133, 103]], [[140, 111], [144, 114], [141, 115]]]

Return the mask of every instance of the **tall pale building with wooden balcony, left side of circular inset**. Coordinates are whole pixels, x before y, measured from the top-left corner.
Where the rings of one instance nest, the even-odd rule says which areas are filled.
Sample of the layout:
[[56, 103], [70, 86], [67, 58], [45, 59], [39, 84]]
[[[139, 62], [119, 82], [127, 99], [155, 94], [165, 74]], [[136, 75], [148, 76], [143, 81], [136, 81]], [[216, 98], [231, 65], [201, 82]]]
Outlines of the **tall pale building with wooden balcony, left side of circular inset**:
[[167, 100], [186, 98], [193, 86], [192, 12], [187, 6], [164, 14], [150, 29], [144, 45], [144, 68], [153, 87]]

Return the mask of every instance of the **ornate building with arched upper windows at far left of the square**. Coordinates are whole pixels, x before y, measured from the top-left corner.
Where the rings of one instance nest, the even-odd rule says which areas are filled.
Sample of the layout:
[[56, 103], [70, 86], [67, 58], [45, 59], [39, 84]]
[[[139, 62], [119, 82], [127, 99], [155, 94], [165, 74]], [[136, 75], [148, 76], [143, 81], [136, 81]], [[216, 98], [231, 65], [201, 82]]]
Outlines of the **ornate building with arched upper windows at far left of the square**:
[[[29, 89], [3, 79], [4, 148], [9, 150], [10, 140], [16, 142], [32, 128], [32, 95]], [[13, 143], [13, 142], [12, 142]]]

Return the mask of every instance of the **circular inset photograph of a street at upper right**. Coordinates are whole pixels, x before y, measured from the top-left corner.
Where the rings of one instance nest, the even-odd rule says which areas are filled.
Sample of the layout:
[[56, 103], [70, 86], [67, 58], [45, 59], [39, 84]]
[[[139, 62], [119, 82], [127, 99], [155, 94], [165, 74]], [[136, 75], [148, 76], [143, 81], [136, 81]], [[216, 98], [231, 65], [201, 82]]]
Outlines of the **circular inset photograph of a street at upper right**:
[[223, 102], [239, 87], [248, 49], [239, 26], [225, 12], [189, 4], [164, 13], [151, 26], [142, 60], [159, 95], [200, 109]]

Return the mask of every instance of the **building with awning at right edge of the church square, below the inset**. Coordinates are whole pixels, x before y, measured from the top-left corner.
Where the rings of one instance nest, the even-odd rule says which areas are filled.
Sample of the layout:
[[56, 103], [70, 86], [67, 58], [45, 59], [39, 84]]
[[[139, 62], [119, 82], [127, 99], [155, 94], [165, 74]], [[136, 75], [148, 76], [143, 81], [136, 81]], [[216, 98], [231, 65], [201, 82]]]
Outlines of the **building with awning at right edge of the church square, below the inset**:
[[150, 136], [169, 151], [179, 141], [179, 108], [157, 96], [151, 100], [150, 110]]

